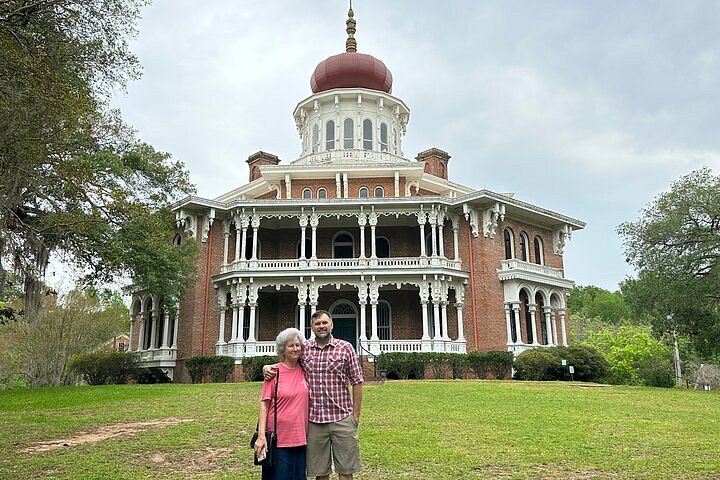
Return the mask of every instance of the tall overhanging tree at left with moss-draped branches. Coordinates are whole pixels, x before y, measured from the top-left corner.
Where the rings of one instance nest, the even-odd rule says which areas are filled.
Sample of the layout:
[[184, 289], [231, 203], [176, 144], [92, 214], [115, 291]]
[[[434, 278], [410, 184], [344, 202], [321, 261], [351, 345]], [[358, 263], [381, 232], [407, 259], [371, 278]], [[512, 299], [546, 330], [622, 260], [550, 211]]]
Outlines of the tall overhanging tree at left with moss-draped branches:
[[112, 92], [139, 76], [128, 49], [144, 0], [0, 1], [0, 301], [15, 273], [26, 317], [51, 254], [88, 284], [130, 272], [174, 305], [194, 243], [173, 248], [180, 162], [135, 138]]

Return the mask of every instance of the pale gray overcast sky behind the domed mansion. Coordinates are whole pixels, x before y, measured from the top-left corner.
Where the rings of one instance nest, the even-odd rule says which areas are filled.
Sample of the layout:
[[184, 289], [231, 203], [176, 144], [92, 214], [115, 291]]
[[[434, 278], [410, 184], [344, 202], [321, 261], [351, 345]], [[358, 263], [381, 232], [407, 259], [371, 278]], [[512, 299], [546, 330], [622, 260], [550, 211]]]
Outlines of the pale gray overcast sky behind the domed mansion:
[[[410, 108], [407, 158], [587, 222], [566, 276], [614, 290], [632, 270], [615, 228], [680, 175], [720, 170], [717, 1], [355, 0], [358, 51]], [[213, 198], [245, 160], [283, 163], [315, 66], [344, 51], [342, 0], [155, 0], [132, 48], [143, 78], [114, 106]]]

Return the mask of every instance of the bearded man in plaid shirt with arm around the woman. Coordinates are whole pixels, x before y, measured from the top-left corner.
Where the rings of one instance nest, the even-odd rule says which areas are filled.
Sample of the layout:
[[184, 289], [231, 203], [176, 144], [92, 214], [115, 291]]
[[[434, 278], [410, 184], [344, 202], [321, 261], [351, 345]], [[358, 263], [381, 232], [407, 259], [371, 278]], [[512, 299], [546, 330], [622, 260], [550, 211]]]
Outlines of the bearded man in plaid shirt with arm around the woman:
[[[340, 479], [352, 480], [353, 474], [362, 470], [358, 443], [362, 368], [352, 345], [332, 336], [328, 312], [316, 311], [310, 325], [315, 338], [305, 342], [301, 357], [310, 387], [307, 474], [329, 480], [332, 458]], [[263, 368], [266, 379], [275, 376], [275, 368]]]

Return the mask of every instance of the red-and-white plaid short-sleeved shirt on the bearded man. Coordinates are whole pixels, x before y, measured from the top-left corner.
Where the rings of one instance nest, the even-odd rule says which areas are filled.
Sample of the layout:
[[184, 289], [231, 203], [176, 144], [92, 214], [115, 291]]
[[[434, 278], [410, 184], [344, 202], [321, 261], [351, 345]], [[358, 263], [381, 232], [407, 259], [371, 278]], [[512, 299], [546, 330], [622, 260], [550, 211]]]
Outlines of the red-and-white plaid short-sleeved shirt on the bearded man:
[[310, 421], [331, 423], [352, 415], [348, 384], [363, 383], [355, 349], [348, 342], [330, 338], [324, 348], [315, 339], [305, 342], [302, 364], [310, 387]]

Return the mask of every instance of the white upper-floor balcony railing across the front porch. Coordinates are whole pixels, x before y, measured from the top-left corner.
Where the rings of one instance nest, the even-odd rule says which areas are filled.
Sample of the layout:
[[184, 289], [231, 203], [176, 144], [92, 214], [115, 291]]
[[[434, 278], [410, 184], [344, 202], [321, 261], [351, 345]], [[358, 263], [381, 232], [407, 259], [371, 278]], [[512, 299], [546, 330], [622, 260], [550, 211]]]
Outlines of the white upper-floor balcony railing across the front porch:
[[220, 267], [220, 273], [238, 271], [285, 271], [298, 270], [366, 270], [368, 268], [425, 268], [438, 267], [460, 270], [460, 260], [445, 257], [394, 257], [394, 258], [314, 258], [314, 259], [258, 259], [238, 260]]

